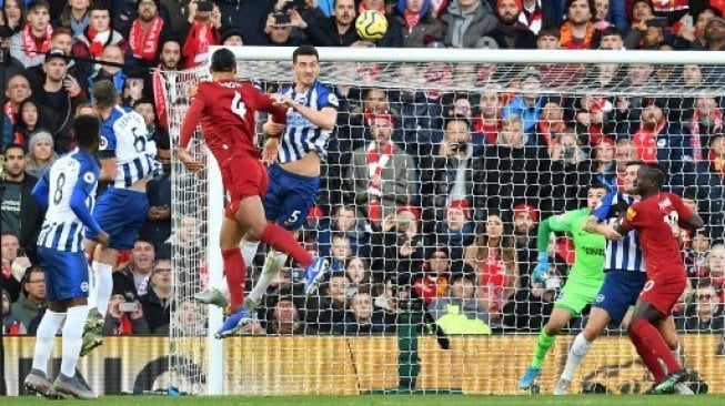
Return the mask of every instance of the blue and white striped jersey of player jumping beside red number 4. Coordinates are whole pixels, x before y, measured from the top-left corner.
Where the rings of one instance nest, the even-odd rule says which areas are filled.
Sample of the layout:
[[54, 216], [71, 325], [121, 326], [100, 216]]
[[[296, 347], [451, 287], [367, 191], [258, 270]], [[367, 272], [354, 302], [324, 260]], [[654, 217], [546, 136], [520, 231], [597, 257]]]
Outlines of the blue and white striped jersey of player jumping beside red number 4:
[[[283, 88], [280, 94], [290, 97], [292, 100], [312, 110], [333, 108], [338, 110], [338, 97], [332, 89], [315, 81], [305, 93], [295, 93], [294, 85]], [[301, 160], [308, 152], [314, 151], [321, 159], [328, 155], [328, 141], [331, 130], [322, 130], [311, 123], [301, 113], [289, 109], [286, 113], [286, 129], [282, 134], [278, 161], [280, 163]]]

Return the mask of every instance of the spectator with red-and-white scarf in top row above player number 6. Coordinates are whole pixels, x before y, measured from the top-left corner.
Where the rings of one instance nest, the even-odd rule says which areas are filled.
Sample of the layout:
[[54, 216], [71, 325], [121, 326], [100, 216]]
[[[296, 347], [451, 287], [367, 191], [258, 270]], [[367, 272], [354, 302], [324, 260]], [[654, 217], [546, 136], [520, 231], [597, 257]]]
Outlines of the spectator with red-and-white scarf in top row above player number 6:
[[159, 54], [161, 41], [171, 33], [170, 24], [160, 16], [159, 0], [138, 0], [139, 17], [131, 23], [128, 33], [127, 62], [141, 68], [152, 68]]

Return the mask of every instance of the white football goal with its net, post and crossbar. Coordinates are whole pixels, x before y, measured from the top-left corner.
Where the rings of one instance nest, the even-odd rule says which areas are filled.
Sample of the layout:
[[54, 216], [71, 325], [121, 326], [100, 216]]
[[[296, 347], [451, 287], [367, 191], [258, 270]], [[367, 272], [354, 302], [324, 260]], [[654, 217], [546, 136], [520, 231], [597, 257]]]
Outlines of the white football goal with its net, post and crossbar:
[[[266, 92], [294, 80], [292, 49], [233, 51], [239, 75]], [[198, 133], [191, 151], [207, 169], [191, 174], [173, 162], [175, 386], [245, 395], [522, 393], [518, 378], [575, 260], [571, 235], [553, 233], [548, 277], [534, 281], [538, 225], [585, 207], [590, 184], [621, 190], [626, 162], [643, 160], [665, 168], [667, 187], [706, 222], [683, 235], [688, 287], [674, 319], [681, 359], [695, 372], [693, 388], [725, 392], [721, 55], [320, 53], [320, 80], [334, 89], [340, 110], [300, 243], [326, 257], [331, 272], [319, 293], [305, 296], [300, 265], [289, 262], [254, 324], [223, 342], [212, 337], [222, 313], [192, 296], [221, 285], [224, 193]], [[170, 78], [175, 143], [190, 92], [208, 80], [208, 67]], [[248, 293], [265, 250], [262, 244], [248, 264]], [[588, 313], [586, 306], [556, 337], [532, 392], [552, 392]], [[439, 344], [431, 319], [450, 349]], [[638, 393], [651, 385], [625, 331], [611, 324], [571, 390]]]

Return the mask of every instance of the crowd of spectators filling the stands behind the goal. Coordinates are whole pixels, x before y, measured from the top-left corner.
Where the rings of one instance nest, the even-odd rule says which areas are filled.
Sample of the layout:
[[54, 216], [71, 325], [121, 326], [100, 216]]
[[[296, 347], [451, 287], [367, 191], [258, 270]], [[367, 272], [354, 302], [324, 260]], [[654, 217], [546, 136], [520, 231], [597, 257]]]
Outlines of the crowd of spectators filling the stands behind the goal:
[[[120, 103], [144, 116], [163, 164], [148, 187], [148, 221], [114, 273], [104, 334], [174, 328], [201, 335], [205, 309], [172, 300], [178, 286], [193, 293], [208, 281], [204, 268], [184, 266], [205, 250], [190, 213], [174, 213], [173, 250], [183, 254], [174, 264], [183, 272], [171, 272], [167, 115], [168, 101], [180, 97], [174, 72], [204, 63], [210, 45], [725, 49], [722, 0], [0, 3], [0, 44], [9, 54], [2, 67], [1, 186], [8, 334], [33, 334], [46, 305], [34, 250], [43, 213], [29, 192], [58, 154], [73, 149], [70, 123], [92, 109], [95, 81], [111, 80]], [[355, 32], [355, 17], [366, 9], [380, 10], [389, 22], [376, 42]], [[304, 296], [300, 270], [283, 268], [259, 322], [243, 334], [393, 333], [411, 303], [425, 306], [451, 334], [538, 331], [566, 281], [573, 250], [565, 235], [553, 236], [551, 276], [534, 283], [537, 224], [583, 206], [590, 183], [620, 187], [631, 160], [665, 166], [669, 186], [708, 224], [683, 240], [689, 285], [676, 311], [677, 328], [725, 333], [723, 101], [706, 91], [651, 97], [663, 83], [706, 89], [717, 69], [540, 65], [507, 77], [494, 64], [464, 68], [400, 67], [403, 78], [423, 74], [447, 84], [475, 78], [454, 93], [336, 87], [339, 125], [319, 204], [301, 236], [309, 251], [329, 258], [331, 272], [316, 294]], [[602, 94], [540, 91], [583, 80]], [[622, 89], [630, 93], [607, 93]], [[260, 271], [263, 254], [258, 256], [252, 276]]]

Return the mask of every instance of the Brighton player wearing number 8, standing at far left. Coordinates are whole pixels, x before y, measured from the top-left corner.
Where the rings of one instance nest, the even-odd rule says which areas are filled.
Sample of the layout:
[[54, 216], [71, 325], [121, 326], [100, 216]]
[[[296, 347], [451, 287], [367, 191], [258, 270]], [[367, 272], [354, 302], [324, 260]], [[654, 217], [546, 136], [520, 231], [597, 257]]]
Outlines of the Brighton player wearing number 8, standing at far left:
[[[102, 246], [109, 235], [91, 216], [99, 168], [93, 154], [99, 146], [99, 120], [80, 115], [73, 122], [78, 149], [46, 171], [32, 191], [33, 199], [47, 207], [46, 220], [38, 236], [38, 257], [46, 273], [48, 309], [36, 336], [32, 369], [24, 387], [32, 394], [58, 398], [66, 395], [94, 398], [75, 374], [81, 352], [83, 324], [88, 316], [88, 260], [83, 253], [83, 231]], [[66, 322], [63, 324], [63, 321]], [[54, 383], [48, 379], [48, 359], [53, 339], [63, 325], [63, 357]]]

